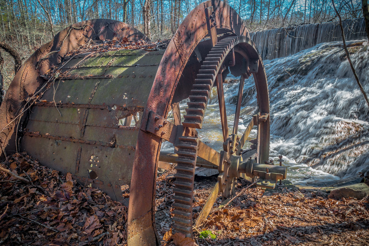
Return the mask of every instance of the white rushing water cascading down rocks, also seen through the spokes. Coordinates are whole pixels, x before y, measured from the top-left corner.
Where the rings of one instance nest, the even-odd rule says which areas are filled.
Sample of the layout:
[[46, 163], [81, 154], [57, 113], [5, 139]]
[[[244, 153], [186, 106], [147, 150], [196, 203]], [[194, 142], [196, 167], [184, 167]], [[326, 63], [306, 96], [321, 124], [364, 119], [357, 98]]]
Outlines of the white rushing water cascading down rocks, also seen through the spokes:
[[[359, 79], [369, 92], [369, 45], [362, 41], [350, 41], [348, 45]], [[287, 178], [294, 184], [314, 185], [354, 178], [358, 172], [368, 170], [368, 106], [341, 42], [321, 43], [264, 64], [270, 97], [270, 158], [277, 162], [278, 155], [283, 155]], [[238, 83], [224, 85], [230, 131], [237, 92]], [[186, 106], [181, 103], [182, 114]], [[245, 80], [238, 134], [243, 133], [256, 109], [251, 76]], [[216, 88], [212, 90], [199, 136], [216, 150], [222, 149]], [[253, 130], [249, 140], [255, 137]]]

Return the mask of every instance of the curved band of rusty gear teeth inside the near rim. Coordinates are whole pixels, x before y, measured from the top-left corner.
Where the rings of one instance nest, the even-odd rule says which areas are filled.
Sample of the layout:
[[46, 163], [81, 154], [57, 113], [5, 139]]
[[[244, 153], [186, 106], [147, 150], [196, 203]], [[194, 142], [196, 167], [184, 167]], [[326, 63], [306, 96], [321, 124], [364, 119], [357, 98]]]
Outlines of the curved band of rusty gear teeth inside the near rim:
[[[236, 42], [252, 41], [245, 36], [227, 37], [214, 45], [207, 57], [204, 59], [199, 74], [194, 81], [190, 102], [187, 102], [186, 115], [183, 115], [184, 127], [201, 129], [204, 112], [210, 90], [213, 87], [215, 76], [217, 75], [220, 65], [223, 63], [228, 50], [234, 47]], [[264, 65], [262, 63], [263, 69]], [[173, 229], [176, 232], [184, 233], [187, 237], [192, 235], [192, 205], [193, 205], [193, 181], [194, 171], [197, 158], [197, 137], [179, 137], [177, 144], [177, 173], [174, 175], [174, 203], [173, 203]], [[220, 174], [221, 175], [221, 174]]]

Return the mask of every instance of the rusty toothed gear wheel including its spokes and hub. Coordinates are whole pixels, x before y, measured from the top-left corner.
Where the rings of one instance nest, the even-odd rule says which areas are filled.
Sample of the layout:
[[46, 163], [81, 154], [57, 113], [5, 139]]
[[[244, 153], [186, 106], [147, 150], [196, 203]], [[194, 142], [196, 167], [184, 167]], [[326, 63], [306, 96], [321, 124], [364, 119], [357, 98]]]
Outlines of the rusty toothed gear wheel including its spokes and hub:
[[[227, 115], [225, 112], [225, 102], [223, 93], [222, 72], [228, 67], [225, 61], [228, 55], [236, 52], [236, 57], [240, 55], [247, 59], [246, 66], [241, 68], [241, 79], [239, 81], [238, 100], [235, 110], [235, 119], [232, 133], [228, 135]], [[258, 66], [255, 66], [258, 64]], [[236, 64], [233, 64], [236, 65]], [[240, 66], [241, 67], [241, 66]], [[258, 98], [259, 112], [252, 117], [251, 122], [246, 127], [242, 136], [237, 136], [239, 114], [241, 109], [242, 92], [244, 88], [244, 80], [246, 77], [254, 75], [255, 86]], [[218, 194], [221, 193], [223, 198], [229, 198], [234, 195], [237, 178], [241, 177], [241, 173], [232, 173], [227, 170], [230, 165], [231, 156], [238, 157], [242, 161], [244, 159], [254, 158], [256, 161], [266, 161], [269, 157], [269, 99], [266, 84], [266, 75], [263, 68], [261, 58], [256, 51], [254, 44], [249, 38], [244, 36], [228, 37], [220, 40], [211, 49], [207, 57], [204, 59], [201, 69], [197, 74], [197, 78], [193, 84], [190, 102], [187, 103], [186, 115], [184, 115], [184, 127], [201, 128], [205, 109], [207, 106], [208, 96], [211, 88], [217, 85], [218, 102], [220, 107], [221, 124], [223, 131], [224, 150], [218, 153], [214, 149], [206, 146], [199, 140], [197, 134], [183, 134], [177, 139], [177, 155], [175, 160], [177, 165], [175, 169], [176, 181], [173, 191], [173, 228], [175, 232], [184, 233], [186, 236], [192, 236], [192, 205], [193, 205], [193, 183], [195, 167], [209, 167], [201, 163], [196, 164], [197, 156], [205, 157], [213, 156], [212, 160], [217, 161], [213, 164], [213, 168], [220, 172], [218, 183], [209, 195], [208, 201], [197, 218], [197, 223], [201, 223], [206, 219], [211, 207], [213, 206]], [[243, 151], [244, 146], [253, 126], [257, 126], [258, 134], [256, 140], [253, 141], [252, 149]], [[210, 155], [209, 155], [210, 154]], [[242, 157], [241, 157], [242, 154]], [[215, 157], [215, 158], [214, 158]], [[206, 158], [207, 160], [210, 158]], [[238, 160], [238, 161], [239, 161]]]

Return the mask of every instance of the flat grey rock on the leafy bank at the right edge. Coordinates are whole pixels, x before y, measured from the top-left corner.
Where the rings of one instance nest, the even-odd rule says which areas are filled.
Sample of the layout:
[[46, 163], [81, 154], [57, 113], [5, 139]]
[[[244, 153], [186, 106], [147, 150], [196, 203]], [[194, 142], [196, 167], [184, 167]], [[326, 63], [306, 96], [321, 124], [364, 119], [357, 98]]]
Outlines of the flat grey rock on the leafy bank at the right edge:
[[359, 183], [332, 189], [331, 193], [328, 195], [328, 198], [341, 199], [343, 197], [352, 197], [362, 199], [367, 195], [369, 195], [369, 186], [365, 183]]

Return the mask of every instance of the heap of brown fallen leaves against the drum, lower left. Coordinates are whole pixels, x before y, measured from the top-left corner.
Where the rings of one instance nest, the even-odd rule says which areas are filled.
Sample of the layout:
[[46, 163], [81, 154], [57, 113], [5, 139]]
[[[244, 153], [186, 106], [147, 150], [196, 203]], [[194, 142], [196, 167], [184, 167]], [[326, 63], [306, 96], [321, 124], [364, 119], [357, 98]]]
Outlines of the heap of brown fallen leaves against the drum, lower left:
[[32, 183], [0, 177], [5, 181], [0, 188], [2, 245], [82, 246], [98, 241], [116, 245], [125, 241], [127, 208], [99, 189], [82, 187], [72, 174], [44, 167], [27, 153], [10, 156], [4, 165], [22, 177], [28, 175]]

